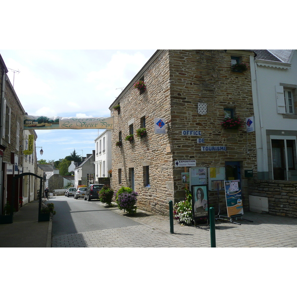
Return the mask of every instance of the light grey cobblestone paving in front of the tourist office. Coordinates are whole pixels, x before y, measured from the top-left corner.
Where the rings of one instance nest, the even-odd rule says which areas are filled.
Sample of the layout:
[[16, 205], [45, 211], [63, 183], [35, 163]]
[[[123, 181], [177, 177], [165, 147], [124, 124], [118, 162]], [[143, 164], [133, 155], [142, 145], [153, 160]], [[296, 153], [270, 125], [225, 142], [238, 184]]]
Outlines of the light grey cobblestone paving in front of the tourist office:
[[[208, 226], [181, 226], [174, 220], [171, 234], [168, 217], [141, 210], [129, 217], [140, 225], [54, 236], [52, 247], [210, 247]], [[296, 218], [253, 212], [243, 218], [253, 222], [216, 220], [216, 247], [297, 247]]]

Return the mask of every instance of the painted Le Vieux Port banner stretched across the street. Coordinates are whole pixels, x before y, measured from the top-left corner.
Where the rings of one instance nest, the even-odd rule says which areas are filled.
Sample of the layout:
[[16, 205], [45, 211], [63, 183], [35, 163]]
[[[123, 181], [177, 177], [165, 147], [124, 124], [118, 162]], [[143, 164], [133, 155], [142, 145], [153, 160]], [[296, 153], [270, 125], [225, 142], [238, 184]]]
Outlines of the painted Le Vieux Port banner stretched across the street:
[[47, 117], [24, 115], [24, 129], [113, 129], [113, 117]]

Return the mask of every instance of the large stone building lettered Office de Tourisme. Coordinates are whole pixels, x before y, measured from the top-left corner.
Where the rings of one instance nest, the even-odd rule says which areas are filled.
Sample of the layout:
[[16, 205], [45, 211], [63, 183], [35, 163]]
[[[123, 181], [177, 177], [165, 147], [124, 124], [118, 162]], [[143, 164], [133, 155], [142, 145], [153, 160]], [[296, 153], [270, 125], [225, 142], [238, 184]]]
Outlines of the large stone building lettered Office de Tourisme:
[[[225, 130], [221, 122], [226, 115], [243, 120], [253, 115], [253, 59], [249, 50], [157, 50], [109, 107], [114, 117], [111, 187], [132, 187], [139, 193], [139, 208], [168, 215], [169, 200], [184, 199], [185, 188], [190, 189], [182, 180], [190, 167], [176, 162], [194, 160], [206, 170], [223, 167], [226, 180], [240, 179], [248, 210], [244, 172], [252, 170], [256, 178], [255, 135], [245, 127]], [[246, 63], [248, 70], [231, 71], [234, 61]], [[140, 80], [145, 92], [134, 88]], [[159, 120], [164, 134], [156, 134]], [[138, 138], [142, 127], [147, 136]], [[130, 134], [134, 141], [125, 141]], [[218, 211], [217, 191], [208, 191], [208, 197]], [[222, 188], [219, 199], [226, 208]]]

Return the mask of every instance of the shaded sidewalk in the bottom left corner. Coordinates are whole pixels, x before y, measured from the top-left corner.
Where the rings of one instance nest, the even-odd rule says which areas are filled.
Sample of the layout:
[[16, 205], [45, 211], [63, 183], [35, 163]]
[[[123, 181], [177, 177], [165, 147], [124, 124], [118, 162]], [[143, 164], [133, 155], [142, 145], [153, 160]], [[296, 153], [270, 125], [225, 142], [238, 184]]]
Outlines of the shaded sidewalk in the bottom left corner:
[[0, 247], [50, 247], [52, 221], [38, 222], [39, 201], [14, 213], [12, 224], [0, 224]]

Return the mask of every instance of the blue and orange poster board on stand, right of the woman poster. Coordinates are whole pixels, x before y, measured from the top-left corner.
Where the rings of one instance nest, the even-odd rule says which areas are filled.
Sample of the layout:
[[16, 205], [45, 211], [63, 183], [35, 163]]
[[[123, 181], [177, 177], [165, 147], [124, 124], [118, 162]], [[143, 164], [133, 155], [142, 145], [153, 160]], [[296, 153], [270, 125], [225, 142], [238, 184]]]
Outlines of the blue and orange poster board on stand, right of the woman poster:
[[243, 215], [243, 200], [240, 180], [225, 181], [225, 195], [228, 217]]

